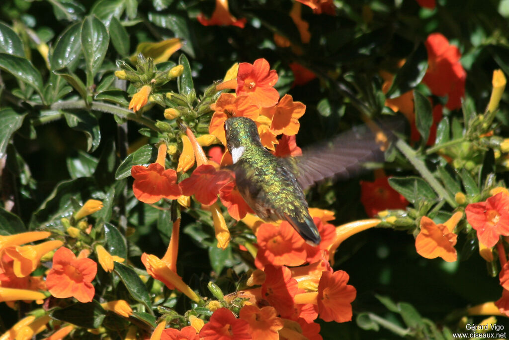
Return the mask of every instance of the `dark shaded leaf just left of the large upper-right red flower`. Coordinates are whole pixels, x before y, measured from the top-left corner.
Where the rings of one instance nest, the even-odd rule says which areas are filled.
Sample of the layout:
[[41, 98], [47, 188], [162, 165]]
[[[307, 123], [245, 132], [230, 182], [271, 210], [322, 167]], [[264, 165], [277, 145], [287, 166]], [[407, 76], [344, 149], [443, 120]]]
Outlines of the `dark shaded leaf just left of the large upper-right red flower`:
[[422, 81], [428, 69], [428, 53], [426, 46], [419, 44], [407, 58], [405, 64], [394, 75], [394, 80], [385, 94], [387, 98], [395, 98], [412, 90]]

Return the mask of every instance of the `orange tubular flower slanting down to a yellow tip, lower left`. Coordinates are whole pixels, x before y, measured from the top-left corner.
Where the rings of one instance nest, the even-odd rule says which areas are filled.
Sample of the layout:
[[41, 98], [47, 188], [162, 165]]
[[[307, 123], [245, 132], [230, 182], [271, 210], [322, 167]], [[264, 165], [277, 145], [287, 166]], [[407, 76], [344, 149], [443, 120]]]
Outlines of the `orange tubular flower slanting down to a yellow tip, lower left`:
[[189, 299], [195, 302], [200, 301], [200, 297], [182, 281], [177, 273], [169, 269], [168, 265], [164, 263], [163, 260], [155, 255], [143, 253], [142, 262], [150, 276], [164, 283], [169, 289], [173, 290], [176, 288]]

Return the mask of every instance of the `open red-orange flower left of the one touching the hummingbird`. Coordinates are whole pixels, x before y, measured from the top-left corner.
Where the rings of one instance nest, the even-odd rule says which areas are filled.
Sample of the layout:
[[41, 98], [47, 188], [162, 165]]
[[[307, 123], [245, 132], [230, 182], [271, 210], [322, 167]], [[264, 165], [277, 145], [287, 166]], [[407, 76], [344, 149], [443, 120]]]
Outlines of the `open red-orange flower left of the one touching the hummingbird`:
[[177, 184], [177, 172], [173, 169], [164, 170], [158, 163], [152, 163], [147, 168], [134, 165], [131, 176], [134, 177], [134, 196], [144, 203], [155, 203], [161, 198], [177, 199], [182, 195]]

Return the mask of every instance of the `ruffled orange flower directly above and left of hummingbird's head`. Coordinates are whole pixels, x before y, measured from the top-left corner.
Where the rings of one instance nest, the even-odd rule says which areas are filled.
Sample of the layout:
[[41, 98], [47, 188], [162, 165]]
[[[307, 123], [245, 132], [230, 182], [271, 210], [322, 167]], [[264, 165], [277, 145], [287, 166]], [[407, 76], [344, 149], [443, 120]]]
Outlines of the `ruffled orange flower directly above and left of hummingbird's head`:
[[211, 105], [214, 110], [209, 124], [209, 133], [226, 145], [224, 122], [230, 117], [247, 117], [256, 120], [259, 108], [251, 103], [249, 96], [235, 96], [232, 93], [221, 93], [217, 101]]

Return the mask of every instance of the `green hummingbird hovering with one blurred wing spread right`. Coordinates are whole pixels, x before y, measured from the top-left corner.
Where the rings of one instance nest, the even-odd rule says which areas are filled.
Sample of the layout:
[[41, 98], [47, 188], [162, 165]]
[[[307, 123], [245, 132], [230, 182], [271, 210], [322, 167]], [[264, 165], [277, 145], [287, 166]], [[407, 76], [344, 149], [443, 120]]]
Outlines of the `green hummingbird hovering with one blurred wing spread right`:
[[309, 215], [304, 190], [328, 177], [347, 178], [362, 163], [383, 160], [373, 134], [353, 130], [329, 144], [303, 150], [301, 156], [277, 157], [260, 140], [256, 123], [247, 117], [231, 117], [224, 123], [227, 147], [232, 155], [237, 189], [262, 220], [288, 221], [309, 244], [321, 238]]

